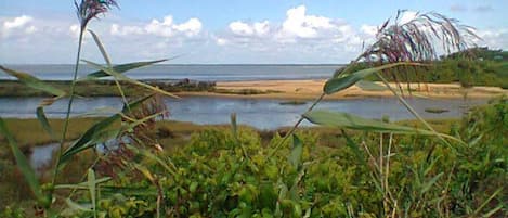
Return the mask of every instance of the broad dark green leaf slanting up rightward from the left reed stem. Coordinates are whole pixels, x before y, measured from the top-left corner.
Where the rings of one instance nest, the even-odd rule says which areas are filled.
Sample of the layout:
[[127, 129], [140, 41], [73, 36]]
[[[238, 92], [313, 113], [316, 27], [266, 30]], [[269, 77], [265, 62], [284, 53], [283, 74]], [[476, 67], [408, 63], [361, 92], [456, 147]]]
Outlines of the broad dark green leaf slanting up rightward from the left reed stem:
[[[152, 98], [153, 94], [146, 95], [144, 98], [141, 98], [140, 100], [136, 100], [129, 105], [123, 105], [122, 113], [127, 113], [128, 108], [135, 108], [136, 106], [141, 105], [144, 101], [147, 99]], [[87, 149], [90, 149], [95, 145], [95, 143], [102, 141], [105, 138], [113, 138], [116, 136], [119, 130], [108, 130], [108, 128], [115, 124], [116, 121], [119, 121], [121, 118], [121, 115], [115, 114], [113, 116], [109, 116], [97, 124], [93, 125], [88, 129], [81, 138], [79, 138], [73, 145], [70, 145], [61, 156], [58, 166], [68, 162], [71, 156], [75, 154], [84, 151]]]

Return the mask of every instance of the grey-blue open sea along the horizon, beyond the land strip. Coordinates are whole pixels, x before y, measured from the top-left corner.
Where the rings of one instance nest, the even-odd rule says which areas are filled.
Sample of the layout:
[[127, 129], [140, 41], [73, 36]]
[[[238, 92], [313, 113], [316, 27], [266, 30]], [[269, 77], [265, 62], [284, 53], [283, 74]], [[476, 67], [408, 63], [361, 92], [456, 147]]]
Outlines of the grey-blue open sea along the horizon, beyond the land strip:
[[[74, 66], [63, 65], [6, 65], [44, 80], [70, 80]], [[166, 65], [157, 64], [128, 72], [134, 79], [192, 79], [200, 81], [245, 81], [274, 79], [320, 79], [330, 77], [343, 65]], [[81, 65], [78, 73], [84, 76], [96, 69]], [[14, 79], [0, 72], [0, 79]]]

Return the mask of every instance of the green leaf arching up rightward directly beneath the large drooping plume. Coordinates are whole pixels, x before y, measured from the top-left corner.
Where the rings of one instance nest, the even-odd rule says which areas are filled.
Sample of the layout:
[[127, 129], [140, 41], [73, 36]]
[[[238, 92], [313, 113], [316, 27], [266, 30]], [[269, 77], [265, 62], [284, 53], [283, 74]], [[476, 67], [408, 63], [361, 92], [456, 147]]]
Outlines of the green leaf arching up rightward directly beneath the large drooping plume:
[[408, 63], [408, 62], [399, 62], [399, 63], [393, 63], [393, 64], [386, 64], [382, 66], [378, 67], [373, 67], [373, 68], [367, 68], [367, 69], [362, 69], [359, 72], [354, 72], [352, 74], [348, 74], [342, 77], [337, 77], [337, 78], [331, 78], [328, 81], [326, 81], [325, 86], [323, 87], [323, 91], [326, 94], [333, 94], [335, 92], [338, 92], [340, 90], [347, 89], [357, 81], [362, 80], [363, 78], [367, 77], [368, 75], [372, 75], [376, 72], [382, 70], [382, 69], [388, 69], [392, 68], [395, 66], [401, 66], [401, 65], [422, 65], [422, 64], [417, 64], [417, 63]]

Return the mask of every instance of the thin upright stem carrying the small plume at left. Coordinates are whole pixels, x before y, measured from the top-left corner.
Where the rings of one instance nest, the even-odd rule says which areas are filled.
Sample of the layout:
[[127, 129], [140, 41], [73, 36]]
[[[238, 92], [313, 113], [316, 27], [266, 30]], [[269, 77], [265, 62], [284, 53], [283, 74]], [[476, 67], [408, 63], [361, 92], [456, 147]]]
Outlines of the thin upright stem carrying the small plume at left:
[[76, 64], [74, 67], [74, 77], [73, 77], [73, 82], [70, 85], [70, 92], [69, 92], [69, 102], [67, 104], [67, 113], [65, 115], [65, 123], [64, 123], [64, 130], [62, 133], [62, 140], [60, 141], [60, 151], [58, 155], [56, 156], [56, 166], [54, 168], [54, 175], [53, 175], [53, 181], [52, 183], [55, 183], [56, 176], [58, 174], [60, 169], [60, 158], [62, 156], [62, 153], [64, 152], [64, 144], [67, 139], [67, 131], [68, 131], [68, 125], [69, 125], [69, 119], [70, 119], [70, 111], [73, 108], [73, 101], [74, 101], [74, 92], [76, 89], [76, 84], [77, 84], [77, 78], [78, 78], [78, 69], [79, 69], [79, 60], [81, 57], [81, 46], [82, 46], [82, 40], [83, 40], [83, 30], [84, 27], [81, 27], [79, 31], [79, 40], [78, 40], [78, 54], [76, 56]]

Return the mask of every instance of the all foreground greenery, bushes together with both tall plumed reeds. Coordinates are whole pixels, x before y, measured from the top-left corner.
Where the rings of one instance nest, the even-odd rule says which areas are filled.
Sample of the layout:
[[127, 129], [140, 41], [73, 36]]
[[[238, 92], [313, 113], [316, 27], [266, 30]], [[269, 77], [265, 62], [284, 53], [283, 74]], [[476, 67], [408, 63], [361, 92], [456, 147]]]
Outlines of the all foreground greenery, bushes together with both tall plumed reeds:
[[[12, 127], [0, 118], [2, 141], [11, 150], [0, 162], [6, 171], [2, 180], [23, 177], [26, 182], [2, 185], [5, 196], [13, 197], [6, 200], [2, 217], [508, 216], [508, 99], [477, 108], [440, 132], [387, 79], [398, 80], [401, 74], [409, 78], [430, 67], [437, 57], [433, 43], [442, 42], [444, 51], [467, 49], [467, 39], [476, 35], [456, 20], [430, 12], [401, 24], [400, 11], [393, 22], [380, 26], [372, 46], [326, 81], [322, 95], [292, 128], [263, 140], [259, 132], [238, 127], [233, 114], [230, 128], [198, 131], [187, 143], [165, 141], [173, 131], [157, 128], [157, 121], [168, 116], [158, 94], [178, 97], [122, 74], [160, 61], [113, 65], [90, 31], [106, 64], [82, 60], [97, 69], [84, 81], [113, 77], [123, 108], [83, 133], [75, 130], [78, 136], [73, 140], [73, 125], [80, 125], [71, 123], [70, 111], [83, 82], [77, 73], [87, 24], [116, 5], [114, 0], [76, 2], [81, 28], [68, 89], [0, 66], [23, 85], [51, 95], [36, 115], [50, 139], [60, 141], [50, 170], [38, 176]], [[429, 26], [431, 31], [424, 30]], [[367, 68], [354, 69], [360, 63]], [[373, 75], [415, 115], [418, 126], [313, 110], [325, 95]], [[127, 98], [122, 82], [151, 93]], [[62, 130], [55, 130], [58, 121], [50, 121], [44, 107], [66, 97], [66, 118], [60, 123]], [[323, 143], [323, 134], [298, 128], [304, 119], [328, 127], [328, 143]], [[99, 146], [103, 149], [97, 151]], [[26, 200], [28, 192], [32, 201], [13, 202]]]

